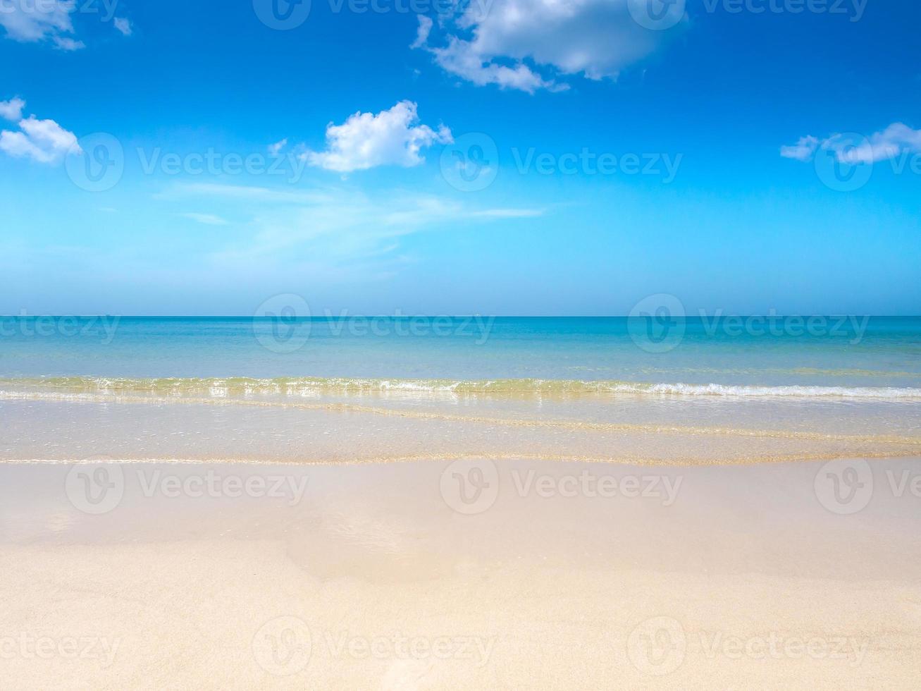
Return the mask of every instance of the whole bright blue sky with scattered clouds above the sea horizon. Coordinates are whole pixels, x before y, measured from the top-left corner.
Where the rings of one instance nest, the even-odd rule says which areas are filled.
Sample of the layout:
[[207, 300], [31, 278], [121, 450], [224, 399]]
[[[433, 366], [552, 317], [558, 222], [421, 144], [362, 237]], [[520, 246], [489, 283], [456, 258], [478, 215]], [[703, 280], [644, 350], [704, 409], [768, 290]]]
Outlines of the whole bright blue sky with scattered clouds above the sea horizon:
[[921, 312], [916, 3], [376, 2], [0, 0], [0, 312]]

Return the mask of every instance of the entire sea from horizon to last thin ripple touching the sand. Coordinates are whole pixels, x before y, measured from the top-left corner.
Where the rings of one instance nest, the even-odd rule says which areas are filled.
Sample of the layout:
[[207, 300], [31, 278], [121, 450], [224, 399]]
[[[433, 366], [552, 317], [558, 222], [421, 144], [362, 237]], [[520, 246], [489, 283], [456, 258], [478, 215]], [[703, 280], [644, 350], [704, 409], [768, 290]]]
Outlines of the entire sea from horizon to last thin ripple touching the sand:
[[6, 318], [0, 458], [921, 455], [921, 319]]

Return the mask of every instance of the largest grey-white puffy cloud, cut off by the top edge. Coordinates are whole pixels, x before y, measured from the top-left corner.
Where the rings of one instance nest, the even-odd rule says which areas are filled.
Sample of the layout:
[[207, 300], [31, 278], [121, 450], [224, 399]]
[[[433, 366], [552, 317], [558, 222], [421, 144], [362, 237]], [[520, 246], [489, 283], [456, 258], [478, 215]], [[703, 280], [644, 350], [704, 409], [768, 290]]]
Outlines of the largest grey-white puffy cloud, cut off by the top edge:
[[[567, 88], [562, 76], [615, 78], [647, 57], [671, 31], [641, 26], [627, 0], [472, 0], [435, 23], [419, 18], [414, 48], [476, 85], [533, 93]], [[683, 22], [682, 22], [683, 23]]]

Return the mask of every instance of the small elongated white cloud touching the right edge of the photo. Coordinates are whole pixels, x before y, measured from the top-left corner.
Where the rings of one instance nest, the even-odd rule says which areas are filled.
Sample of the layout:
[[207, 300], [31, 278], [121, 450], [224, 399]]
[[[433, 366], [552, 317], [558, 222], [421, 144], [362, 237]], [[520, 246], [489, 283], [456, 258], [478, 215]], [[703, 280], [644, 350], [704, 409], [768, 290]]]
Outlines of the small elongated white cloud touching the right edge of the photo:
[[876, 163], [903, 154], [921, 153], [921, 130], [904, 123], [892, 123], [886, 129], [869, 137], [835, 134], [824, 139], [814, 136], [800, 137], [792, 146], [781, 146], [780, 155], [810, 161], [819, 149], [832, 151], [842, 163]]

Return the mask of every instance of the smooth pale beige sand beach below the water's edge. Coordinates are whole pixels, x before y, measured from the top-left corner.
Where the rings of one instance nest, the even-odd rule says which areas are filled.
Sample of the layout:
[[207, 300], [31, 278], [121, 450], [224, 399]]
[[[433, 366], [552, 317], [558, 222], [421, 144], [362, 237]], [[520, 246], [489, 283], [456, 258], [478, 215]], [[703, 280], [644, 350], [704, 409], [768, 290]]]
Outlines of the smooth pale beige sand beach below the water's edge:
[[8, 688], [913, 688], [918, 459], [0, 464]]

